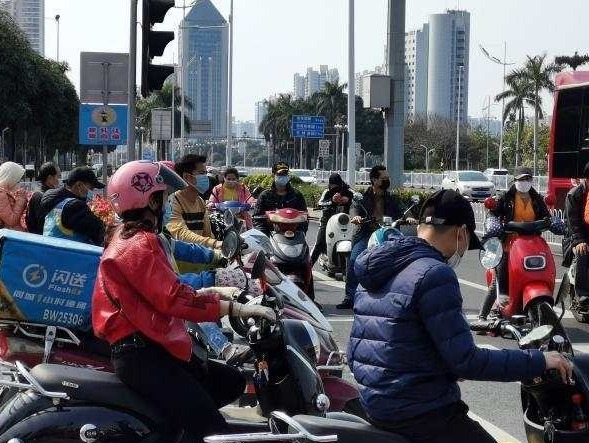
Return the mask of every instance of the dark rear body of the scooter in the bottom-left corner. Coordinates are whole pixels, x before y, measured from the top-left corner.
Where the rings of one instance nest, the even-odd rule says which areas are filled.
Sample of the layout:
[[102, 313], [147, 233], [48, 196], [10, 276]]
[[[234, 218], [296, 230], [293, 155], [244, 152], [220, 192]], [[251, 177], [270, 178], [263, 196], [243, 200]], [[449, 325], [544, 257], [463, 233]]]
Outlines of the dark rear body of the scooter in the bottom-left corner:
[[[172, 433], [134, 415], [102, 406], [54, 406], [51, 399], [31, 391], [16, 394], [0, 411], [0, 441], [174, 442]], [[171, 431], [168, 429], [168, 431]], [[171, 438], [172, 437], [172, 438]]]

